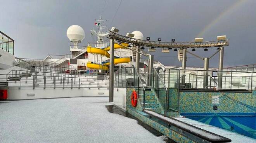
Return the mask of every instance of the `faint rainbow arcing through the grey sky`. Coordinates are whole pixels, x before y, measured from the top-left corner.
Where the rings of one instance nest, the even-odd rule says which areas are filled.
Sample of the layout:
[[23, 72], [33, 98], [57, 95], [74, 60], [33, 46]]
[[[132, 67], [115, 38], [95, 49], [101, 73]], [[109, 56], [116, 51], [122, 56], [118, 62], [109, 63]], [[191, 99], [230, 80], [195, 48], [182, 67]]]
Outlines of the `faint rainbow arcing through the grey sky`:
[[234, 12], [235, 9], [237, 9], [242, 3], [246, 1], [247, 0], [239, 0], [230, 7], [228, 7], [228, 9], [226, 9], [224, 12], [221, 12], [221, 14], [218, 15], [218, 17], [216, 17], [215, 19], [213, 19], [206, 27], [204, 27], [204, 29], [202, 29], [202, 31], [199, 34], [197, 34], [196, 37], [202, 37], [206, 33], [206, 31], [208, 31], [209, 29], [211, 29], [211, 27], [216, 25], [223, 17]]

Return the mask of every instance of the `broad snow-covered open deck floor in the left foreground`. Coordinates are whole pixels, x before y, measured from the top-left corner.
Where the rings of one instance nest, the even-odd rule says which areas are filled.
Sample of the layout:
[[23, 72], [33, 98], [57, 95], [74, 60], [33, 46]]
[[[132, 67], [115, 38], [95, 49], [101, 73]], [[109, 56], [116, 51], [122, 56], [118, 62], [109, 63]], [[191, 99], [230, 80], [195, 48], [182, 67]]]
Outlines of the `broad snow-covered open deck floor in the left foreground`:
[[136, 120], [108, 112], [108, 100], [0, 101], [0, 142], [164, 143]]

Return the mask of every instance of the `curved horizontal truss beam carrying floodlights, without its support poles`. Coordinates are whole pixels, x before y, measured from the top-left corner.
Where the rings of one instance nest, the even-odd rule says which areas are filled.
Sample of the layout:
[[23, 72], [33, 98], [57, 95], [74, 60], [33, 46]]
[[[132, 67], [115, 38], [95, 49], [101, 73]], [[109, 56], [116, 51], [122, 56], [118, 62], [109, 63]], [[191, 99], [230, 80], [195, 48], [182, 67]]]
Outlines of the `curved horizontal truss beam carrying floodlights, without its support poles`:
[[156, 47], [156, 48], [209, 48], [228, 46], [228, 39], [218, 41], [206, 42], [161, 42], [161, 41], [147, 41], [131, 37], [126, 37], [116, 32], [109, 31], [108, 38], [115, 39], [121, 43], [135, 44], [137, 46]]

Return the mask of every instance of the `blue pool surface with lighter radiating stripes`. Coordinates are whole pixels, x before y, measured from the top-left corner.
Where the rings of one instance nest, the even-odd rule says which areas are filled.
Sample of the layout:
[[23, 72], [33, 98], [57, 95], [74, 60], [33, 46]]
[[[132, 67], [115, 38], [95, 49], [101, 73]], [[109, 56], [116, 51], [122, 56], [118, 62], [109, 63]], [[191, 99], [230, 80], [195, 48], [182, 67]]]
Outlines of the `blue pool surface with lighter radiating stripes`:
[[186, 113], [181, 115], [256, 139], [256, 113]]

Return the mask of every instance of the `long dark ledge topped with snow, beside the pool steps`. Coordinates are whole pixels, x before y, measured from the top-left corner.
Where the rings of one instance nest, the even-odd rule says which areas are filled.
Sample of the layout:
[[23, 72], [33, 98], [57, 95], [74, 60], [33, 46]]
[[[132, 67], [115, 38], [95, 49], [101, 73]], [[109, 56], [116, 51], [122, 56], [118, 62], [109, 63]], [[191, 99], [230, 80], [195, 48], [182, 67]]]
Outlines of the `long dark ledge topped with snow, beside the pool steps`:
[[182, 121], [178, 121], [177, 119], [173, 119], [173, 118], [169, 118], [169, 117], [165, 117], [162, 116], [160, 114], [157, 114], [156, 112], [153, 111], [144, 111], [145, 113], [149, 114], [150, 116], [156, 117], [158, 119], [161, 119], [162, 121], [172, 125], [172, 126], [176, 126], [180, 129], [182, 129], [183, 131], [187, 131], [190, 134], [193, 134], [195, 136], [198, 136], [206, 141], [209, 142], [213, 142], [213, 143], [227, 143], [227, 142], [231, 142], [230, 139], [225, 138], [223, 136], [220, 136], [218, 134], [214, 134], [211, 133], [209, 131], [197, 128], [195, 126], [192, 126], [190, 124], [184, 123]]

